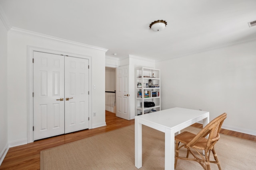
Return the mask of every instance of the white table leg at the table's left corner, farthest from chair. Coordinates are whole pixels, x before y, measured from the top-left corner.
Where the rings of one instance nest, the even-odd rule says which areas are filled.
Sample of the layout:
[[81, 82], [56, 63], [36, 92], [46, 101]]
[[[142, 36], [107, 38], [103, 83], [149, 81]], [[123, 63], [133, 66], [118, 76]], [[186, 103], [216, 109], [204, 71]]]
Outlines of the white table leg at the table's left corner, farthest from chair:
[[135, 166], [142, 167], [142, 124], [135, 117]]

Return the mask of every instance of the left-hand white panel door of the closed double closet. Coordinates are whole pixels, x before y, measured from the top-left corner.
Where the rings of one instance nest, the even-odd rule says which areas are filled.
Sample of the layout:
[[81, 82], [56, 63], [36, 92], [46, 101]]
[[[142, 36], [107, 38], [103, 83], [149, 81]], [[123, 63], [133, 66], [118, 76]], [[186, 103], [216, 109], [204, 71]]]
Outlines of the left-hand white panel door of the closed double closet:
[[34, 52], [34, 140], [63, 133], [64, 57]]

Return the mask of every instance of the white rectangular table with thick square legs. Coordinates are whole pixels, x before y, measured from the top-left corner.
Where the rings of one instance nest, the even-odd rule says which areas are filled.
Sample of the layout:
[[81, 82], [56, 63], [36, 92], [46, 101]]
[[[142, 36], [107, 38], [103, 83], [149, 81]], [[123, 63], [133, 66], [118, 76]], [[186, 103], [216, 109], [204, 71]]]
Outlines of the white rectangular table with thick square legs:
[[209, 112], [184, 108], [171, 108], [135, 116], [135, 166], [142, 167], [142, 125], [165, 133], [166, 170], [174, 170], [175, 133], [203, 120], [203, 127], [209, 123]]

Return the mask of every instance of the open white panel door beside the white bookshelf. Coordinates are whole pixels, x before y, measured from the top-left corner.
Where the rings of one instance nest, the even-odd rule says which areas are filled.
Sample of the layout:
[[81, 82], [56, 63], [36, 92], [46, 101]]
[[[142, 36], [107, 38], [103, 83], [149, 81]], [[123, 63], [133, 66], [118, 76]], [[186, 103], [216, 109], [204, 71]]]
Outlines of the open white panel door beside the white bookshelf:
[[116, 68], [116, 116], [130, 120], [129, 65]]

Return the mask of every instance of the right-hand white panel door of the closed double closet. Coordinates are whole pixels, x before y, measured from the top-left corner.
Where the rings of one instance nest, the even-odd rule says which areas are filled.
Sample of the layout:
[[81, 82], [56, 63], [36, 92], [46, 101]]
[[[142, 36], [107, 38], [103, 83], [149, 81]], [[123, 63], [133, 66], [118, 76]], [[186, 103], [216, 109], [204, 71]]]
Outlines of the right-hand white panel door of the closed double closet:
[[65, 57], [65, 133], [89, 128], [88, 59]]

